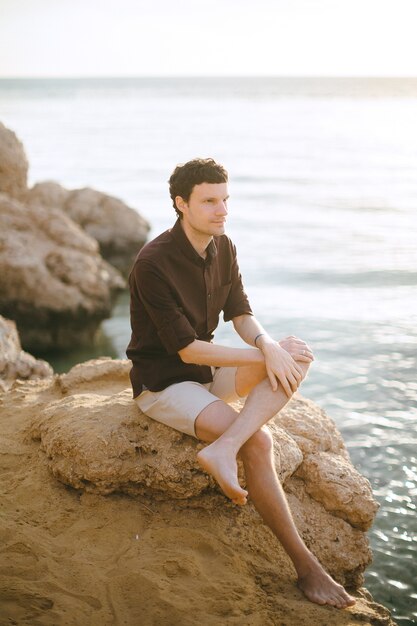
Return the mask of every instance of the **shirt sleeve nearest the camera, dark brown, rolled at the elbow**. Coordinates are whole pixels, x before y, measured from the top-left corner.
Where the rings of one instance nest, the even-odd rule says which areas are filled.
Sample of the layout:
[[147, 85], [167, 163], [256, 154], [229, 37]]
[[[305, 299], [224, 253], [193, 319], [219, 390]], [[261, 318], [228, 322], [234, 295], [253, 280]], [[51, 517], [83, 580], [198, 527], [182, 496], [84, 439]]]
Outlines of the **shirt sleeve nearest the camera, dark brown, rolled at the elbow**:
[[175, 354], [192, 343], [196, 338], [195, 330], [157, 268], [146, 261], [139, 261], [132, 271], [131, 280], [167, 353]]

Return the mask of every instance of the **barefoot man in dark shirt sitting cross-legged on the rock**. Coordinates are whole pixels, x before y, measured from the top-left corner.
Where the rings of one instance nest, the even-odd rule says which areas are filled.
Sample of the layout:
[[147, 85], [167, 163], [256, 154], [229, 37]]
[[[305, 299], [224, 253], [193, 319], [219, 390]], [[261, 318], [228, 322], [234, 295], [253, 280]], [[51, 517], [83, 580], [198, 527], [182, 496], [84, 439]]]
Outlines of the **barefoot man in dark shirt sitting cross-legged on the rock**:
[[[297, 390], [313, 354], [296, 337], [274, 341], [254, 317], [236, 249], [224, 234], [227, 182], [213, 159], [189, 161], [170, 178], [177, 222], [142, 248], [129, 278], [133, 394], [148, 416], [210, 444], [198, 453], [199, 464], [234, 503], [244, 505], [249, 494], [307, 598], [345, 608], [354, 598], [298, 534], [265, 426]], [[221, 311], [250, 347], [212, 343]], [[238, 398], [246, 398], [240, 413], [228, 404]], [[238, 482], [237, 454], [247, 491]]]

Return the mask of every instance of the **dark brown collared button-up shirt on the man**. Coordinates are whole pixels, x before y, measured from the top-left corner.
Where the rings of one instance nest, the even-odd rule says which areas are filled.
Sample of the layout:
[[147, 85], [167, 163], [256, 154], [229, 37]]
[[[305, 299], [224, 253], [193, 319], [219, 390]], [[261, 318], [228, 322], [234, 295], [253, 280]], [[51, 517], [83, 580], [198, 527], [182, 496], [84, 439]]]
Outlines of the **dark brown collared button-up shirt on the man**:
[[184, 363], [178, 351], [195, 339], [211, 341], [223, 311], [227, 322], [252, 315], [226, 235], [213, 237], [203, 259], [178, 219], [142, 248], [129, 276], [133, 396], [186, 380], [211, 382], [207, 365]]

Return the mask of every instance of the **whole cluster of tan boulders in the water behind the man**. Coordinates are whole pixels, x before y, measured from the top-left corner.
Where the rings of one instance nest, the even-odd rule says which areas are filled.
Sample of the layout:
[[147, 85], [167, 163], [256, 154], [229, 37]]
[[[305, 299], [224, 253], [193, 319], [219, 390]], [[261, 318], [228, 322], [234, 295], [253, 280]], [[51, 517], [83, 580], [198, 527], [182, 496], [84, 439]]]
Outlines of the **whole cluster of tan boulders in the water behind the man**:
[[0, 314], [28, 350], [91, 343], [126, 286], [113, 266], [128, 273], [149, 225], [93, 189], [29, 191], [27, 172], [21, 142], [0, 123]]

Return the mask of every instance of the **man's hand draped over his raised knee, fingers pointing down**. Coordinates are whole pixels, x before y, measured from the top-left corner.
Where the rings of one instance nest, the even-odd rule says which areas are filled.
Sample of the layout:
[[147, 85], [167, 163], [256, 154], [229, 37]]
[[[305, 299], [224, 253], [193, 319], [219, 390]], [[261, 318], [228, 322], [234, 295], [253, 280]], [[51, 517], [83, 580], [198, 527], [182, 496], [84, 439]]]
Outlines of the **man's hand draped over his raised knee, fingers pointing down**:
[[266, 372], [272, 389], [276, 391], [279, 382], [290, 398], [303, 380], [303, 370], [289, 352], [276, 341], [265, 339], [260, 349], [265, 357]]

